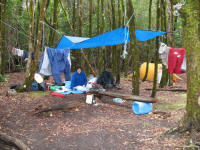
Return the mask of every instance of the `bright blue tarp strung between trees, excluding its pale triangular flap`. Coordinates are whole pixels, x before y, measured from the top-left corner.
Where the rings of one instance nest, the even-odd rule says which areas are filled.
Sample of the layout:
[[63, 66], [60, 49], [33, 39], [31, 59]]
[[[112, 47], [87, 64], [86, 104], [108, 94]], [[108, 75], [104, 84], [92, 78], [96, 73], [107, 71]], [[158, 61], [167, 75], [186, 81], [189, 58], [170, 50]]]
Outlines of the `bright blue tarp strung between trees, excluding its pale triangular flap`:
[[[144, 31], [136, 30], [136, 39], [138, 41], [147, 41], [157, 36], [163, 35], [166, 32], [161, 31]], [[110, 45], [123, 44], [125, 42], [130, 42], [130, 35], [127, 27], [120, 27], [110, 32], [103, 33], [101, 35], [95, 36], [83, 42], [74, 44], [70, 41], [67, 36], [63, 36], [57, 48], [59, 49], [82, 49], [82, 48], [92, 48], [92, 47], [102, 47]]]

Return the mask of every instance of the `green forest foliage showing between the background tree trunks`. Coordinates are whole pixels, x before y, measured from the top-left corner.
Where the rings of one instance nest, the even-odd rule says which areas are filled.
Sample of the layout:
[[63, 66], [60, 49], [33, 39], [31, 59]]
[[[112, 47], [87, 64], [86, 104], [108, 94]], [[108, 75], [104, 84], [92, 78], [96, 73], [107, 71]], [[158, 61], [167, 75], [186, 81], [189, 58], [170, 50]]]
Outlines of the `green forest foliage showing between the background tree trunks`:
[[[61, 0], [64, 6], [64, 9], [66, 10], [68, 17], [69, 17], [69, 21], [72, 24], [72, 19], [73, 19], [73, 2], [74, 0]], [[36, 1], [37, 2], [37, 1]], [[56, 45], [58, 44], [59, 40], [61, 39], [62, 35], [74, 35], [74, 36], [79, 36], [79, 21], [78, 21], [78, 17], [79, 17], [79, 8], [78, 8], [78, 0], [76, 0], [76, 22], [75, 22], [75, 33], [73, 34], [73, 31], [71, 30], [68, 22], [67, 22], [67, 18], [65, 16], [64, 11], [62, 10], [62, 7], [60, 5], [60, 3], [58, 3], [58, 13], [57, 13], [57, 31], [60, 32], [60, 34], [55, 33], [55, 38], [53, 41], [53, 47], [56, 47]], [[88, 0], [82, 0], [82, 20], [83, 20], [83, 26], [82, 26], [82, 36], [83, 37], [88, 37], [89, 36], [89, 1]], [[97, 0], [93, 1], [93, 16], [92, 16], [92, 36], [96, 36], [98, 34], [98, 30], [97, 30], [97, 20], [100, 20], [99, 23], [102, 24], [102, 14], [100, 13], [100, 18], [98, 18], [97, 16]], [[113, 0], [114, 2], [114, 7], [117, 10], [118, 9], [118, 0]], [[125, 2], [125, 0], [124, 0]], [[147, 30], [148, 29], [148, 8], [149, 8], [149, 0], [132, 0], [133, 2], [133, 6], [135, 9], [135, 22], [136, 22], [136, 29], [143, 29], [143, 30]], [[6, 41], [6, 46], [8, 47], [8, 51], [11, 50], [10, 47], [16, 47], [16, 48], [20, 48], [20, 49], [24, 49], [24, 50], [28, 50], [28, 37], [25, 36], [24, 34], [28, 35], [29, 32], [29, 14], [28, 14], [28, 8], [27, 5], [28, 3], [26, 3], [26, 1], [22, 1], [22, 0], [9, 0], [7, 1], [7, 5], [6, 5], [6, 20], [5, 22], [8, 23], [9, 25], [11, 25], [12, 27], [14, 27], [15, 29], [17, 29], [18, 31], [14, 30], [13, 28], [10, 28], [8, 26], [6, 26], [6, 39], [4, 41]], [[168, 3], [169, 5], [169, 3]], [[111, 11], [111, 1], [110, 0], [104, 0], [104, 11], [105, 11], [105, 28], [104, 28], [104, 32], [110, 31], [111, 30], [111, 26], [112, 26], [112, 11]], [[47, 20], [47, 22], [50, 25], [53, 25], [53, 11], [54, 11], [54, 1], [49, 1], [49, 5], [48, 8], [46, 10], [46, 17], [45, 19]], [[101, 8], [100, 8], [101, 11]], [[125, 18], [125, 23], [130, 19], [127, 17], [127, 13], [126, 16], [124, 16], [125, 12], [122, 12], [123, 17]], [[37, 23], [37, 18], [38, 18], [38, 9], [37, 9], [37, 4], [35, 4], [35, 24]], [[116, 23], [119, 21], [119, 14], [116, 12], [115, 13], [115, 18], [116, 18]], [[167, 14], [167, 18], [168, 18], [168, 14]], [[156, 24], [156, 1], [153, 1], [152, 3], [152, 30], [155, 30], [155, 24]], [[122, 20], [123, 24], [124, 24], [124, 20]], [[35, 29], [36, 30], [36, 29]], [[49, 41], [49, 34], [50, 31], [52, 29], [47, 26], [44, 25], [44, 45], [45, 46], [49, 46], [48, 45], [48, 41]], [[35, 32], [36, 33], [36, 32]], [[176, 43], [176, 47], [183, 47], [183, 41], [182, 41], [182, 20], [180, 17], [177, 18], [177, 21], [175, 22], [175, 32], [174, 32], [174, 36], [175, 36], [175, 43]], [[36, 38], [36, 35], [34, 35], [34, 38]], [[140, 62], [144, 62], [146, 61], [146, 43], [144, 42], [137, 42], [139, 45], [139, 55], [140, 55]], [[151, 47], [152, 47], [152, 51], [154, 50], [154, 42], [151, 43]], [[119, 49], [121, 47], [117, 46]], [[110, 48], [107, 48], [110, 49]], [[127, 51], [130, 54], [130, 49], [128, 48]], [[95, 60], [96, 58], [98, 58], [98, 55], [96, 55], [96, 49], [92, 50], [92, 57], [94, 57], [94, 59], [92, 59], [91, 62], [94, 66], [97, 66], [97, 64], [95, 64]], [[108, 60], [110, 60], [110, 58], [112, 57], [110, 53], [108, 53], [109, 56], [107, 57]], [[72, 61], [76, 61], [76, 56], [73, 56], [74, 58], [72, 58]], [[74, 63], [74, 62], [72, 62]], [[108, 61], [105, 61], [105, 63], [110, 63]], [[111, 66], [110, 64], [106, 64], [104, 66]], [[129, 61], [129, 66], [130, 65], [130, 61]]]

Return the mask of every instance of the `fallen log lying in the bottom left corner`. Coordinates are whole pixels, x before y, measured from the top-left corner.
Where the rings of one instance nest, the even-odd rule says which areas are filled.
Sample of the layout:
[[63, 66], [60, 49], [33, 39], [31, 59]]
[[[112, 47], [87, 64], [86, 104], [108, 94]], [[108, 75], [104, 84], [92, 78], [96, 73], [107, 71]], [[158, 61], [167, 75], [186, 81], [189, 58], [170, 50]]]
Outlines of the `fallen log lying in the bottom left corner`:
[[8, 143], [9, 145], [13, 145], [20, 150], [30, 150], [28, 146], [26, 146], [21, 140], [11, 137], [6, 133], [0, 131], [0, 140]]

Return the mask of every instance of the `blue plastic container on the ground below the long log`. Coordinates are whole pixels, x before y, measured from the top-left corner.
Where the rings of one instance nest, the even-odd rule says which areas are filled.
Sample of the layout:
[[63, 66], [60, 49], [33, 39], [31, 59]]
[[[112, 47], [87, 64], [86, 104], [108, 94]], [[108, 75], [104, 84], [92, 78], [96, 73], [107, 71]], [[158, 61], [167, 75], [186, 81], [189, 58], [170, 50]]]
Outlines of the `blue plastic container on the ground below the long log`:
[[132, 103], [132, 111], [136, 115], [148, 114], [152, 111], [152, 103], [145, 102], [133, 102]]

